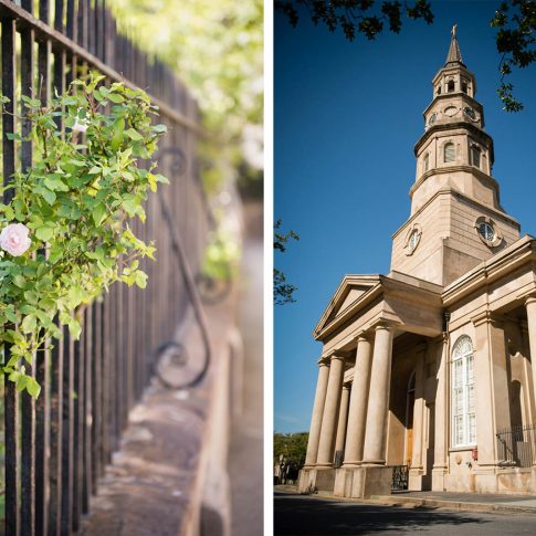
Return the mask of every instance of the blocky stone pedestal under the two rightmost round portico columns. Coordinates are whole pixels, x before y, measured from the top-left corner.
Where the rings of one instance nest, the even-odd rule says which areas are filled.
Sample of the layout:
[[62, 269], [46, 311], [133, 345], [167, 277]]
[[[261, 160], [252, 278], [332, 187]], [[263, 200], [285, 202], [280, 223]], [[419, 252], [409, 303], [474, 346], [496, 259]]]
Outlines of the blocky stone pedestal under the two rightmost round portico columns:
[[369, 498], [372, 495], [390, 495], [392, 467], [359, 466], [336, 470], [334, 494], [339, 497]]

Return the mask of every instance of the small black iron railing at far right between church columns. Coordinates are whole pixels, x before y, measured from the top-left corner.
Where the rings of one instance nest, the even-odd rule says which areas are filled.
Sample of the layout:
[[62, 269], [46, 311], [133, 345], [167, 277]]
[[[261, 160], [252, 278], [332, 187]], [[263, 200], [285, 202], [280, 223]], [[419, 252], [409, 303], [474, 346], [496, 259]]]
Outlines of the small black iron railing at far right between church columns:
[[497, 460], [503, 467], [532, 467], [536, 462], [536, 428], [532, 424], [501, 430]]

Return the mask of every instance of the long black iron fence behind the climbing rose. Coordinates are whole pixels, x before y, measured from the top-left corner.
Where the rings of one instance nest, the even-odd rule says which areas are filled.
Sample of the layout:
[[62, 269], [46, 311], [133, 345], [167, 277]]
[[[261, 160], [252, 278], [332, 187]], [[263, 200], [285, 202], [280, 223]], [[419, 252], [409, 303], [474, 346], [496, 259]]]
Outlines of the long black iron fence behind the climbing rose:
[[[186, 87], [117, 33], [103, 0], [22, 0], [21, 6], [0, 0], [0, 20], [2, 93], [11, 99], [2, 115], [4, 181], [32, 165], [31, 144], [22, 144], [19, 156], [6, 137], [20, 128], [11, 114], [20, 108], [21, 95], [39, 87], [41, 99], [49, 101], [87, 67], [145, 88], [169, 127], [160, 172], [171, 178], [167, 206], [183, 258], [196, 273], [209, 222], [195, 156], [199, 114]], [[4, 382], [8, 535], [77, 530], [119, 446], [128, 411], [151, 377], [155, 349], [172, 338], [185, 316], [191, 296], [174, 258], [177, 237], [157, 198], [148, 200], [146, 212], [146, 224], [134, 225], [143, 240], [157, 244], [158, 261], [140, 263], [149, 275], [147, 290], [115, 285], [102, 302], [78, 312], [82, 338], [72, 340], [65, 332], [52, 350], [39, 353], [31, 372], [43, 386], [38, 400]]]

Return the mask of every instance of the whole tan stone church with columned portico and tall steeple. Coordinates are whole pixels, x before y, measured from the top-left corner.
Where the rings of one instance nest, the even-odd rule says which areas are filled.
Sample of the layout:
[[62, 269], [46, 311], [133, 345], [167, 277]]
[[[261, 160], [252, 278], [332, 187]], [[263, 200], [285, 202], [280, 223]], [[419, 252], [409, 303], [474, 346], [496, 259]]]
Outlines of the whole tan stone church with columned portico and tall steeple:
[[390, 272], [346, 275], [314, 330], [302, 492], [536, 493], [536, 239], [501, 206], [455, 27], [432, 87]]

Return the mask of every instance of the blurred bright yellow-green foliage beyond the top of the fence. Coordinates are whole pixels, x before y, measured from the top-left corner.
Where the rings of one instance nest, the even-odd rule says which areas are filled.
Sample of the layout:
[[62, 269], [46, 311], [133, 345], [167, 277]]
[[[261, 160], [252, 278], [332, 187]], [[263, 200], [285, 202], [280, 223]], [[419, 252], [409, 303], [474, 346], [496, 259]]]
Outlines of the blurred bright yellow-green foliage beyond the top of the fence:
[[[198, 99], [211, 137], [201, 149], [209, 191], [229, 171], [240, 174], [239, 183], [262, 182], [259, 158], [249, 156], [248, 133], [251, 126], [262, 129], [263, 1], [111, 0], [109, 6], [119, 30], [174, 69]], [[262, 139], [256, 145], [262, 151]]]

